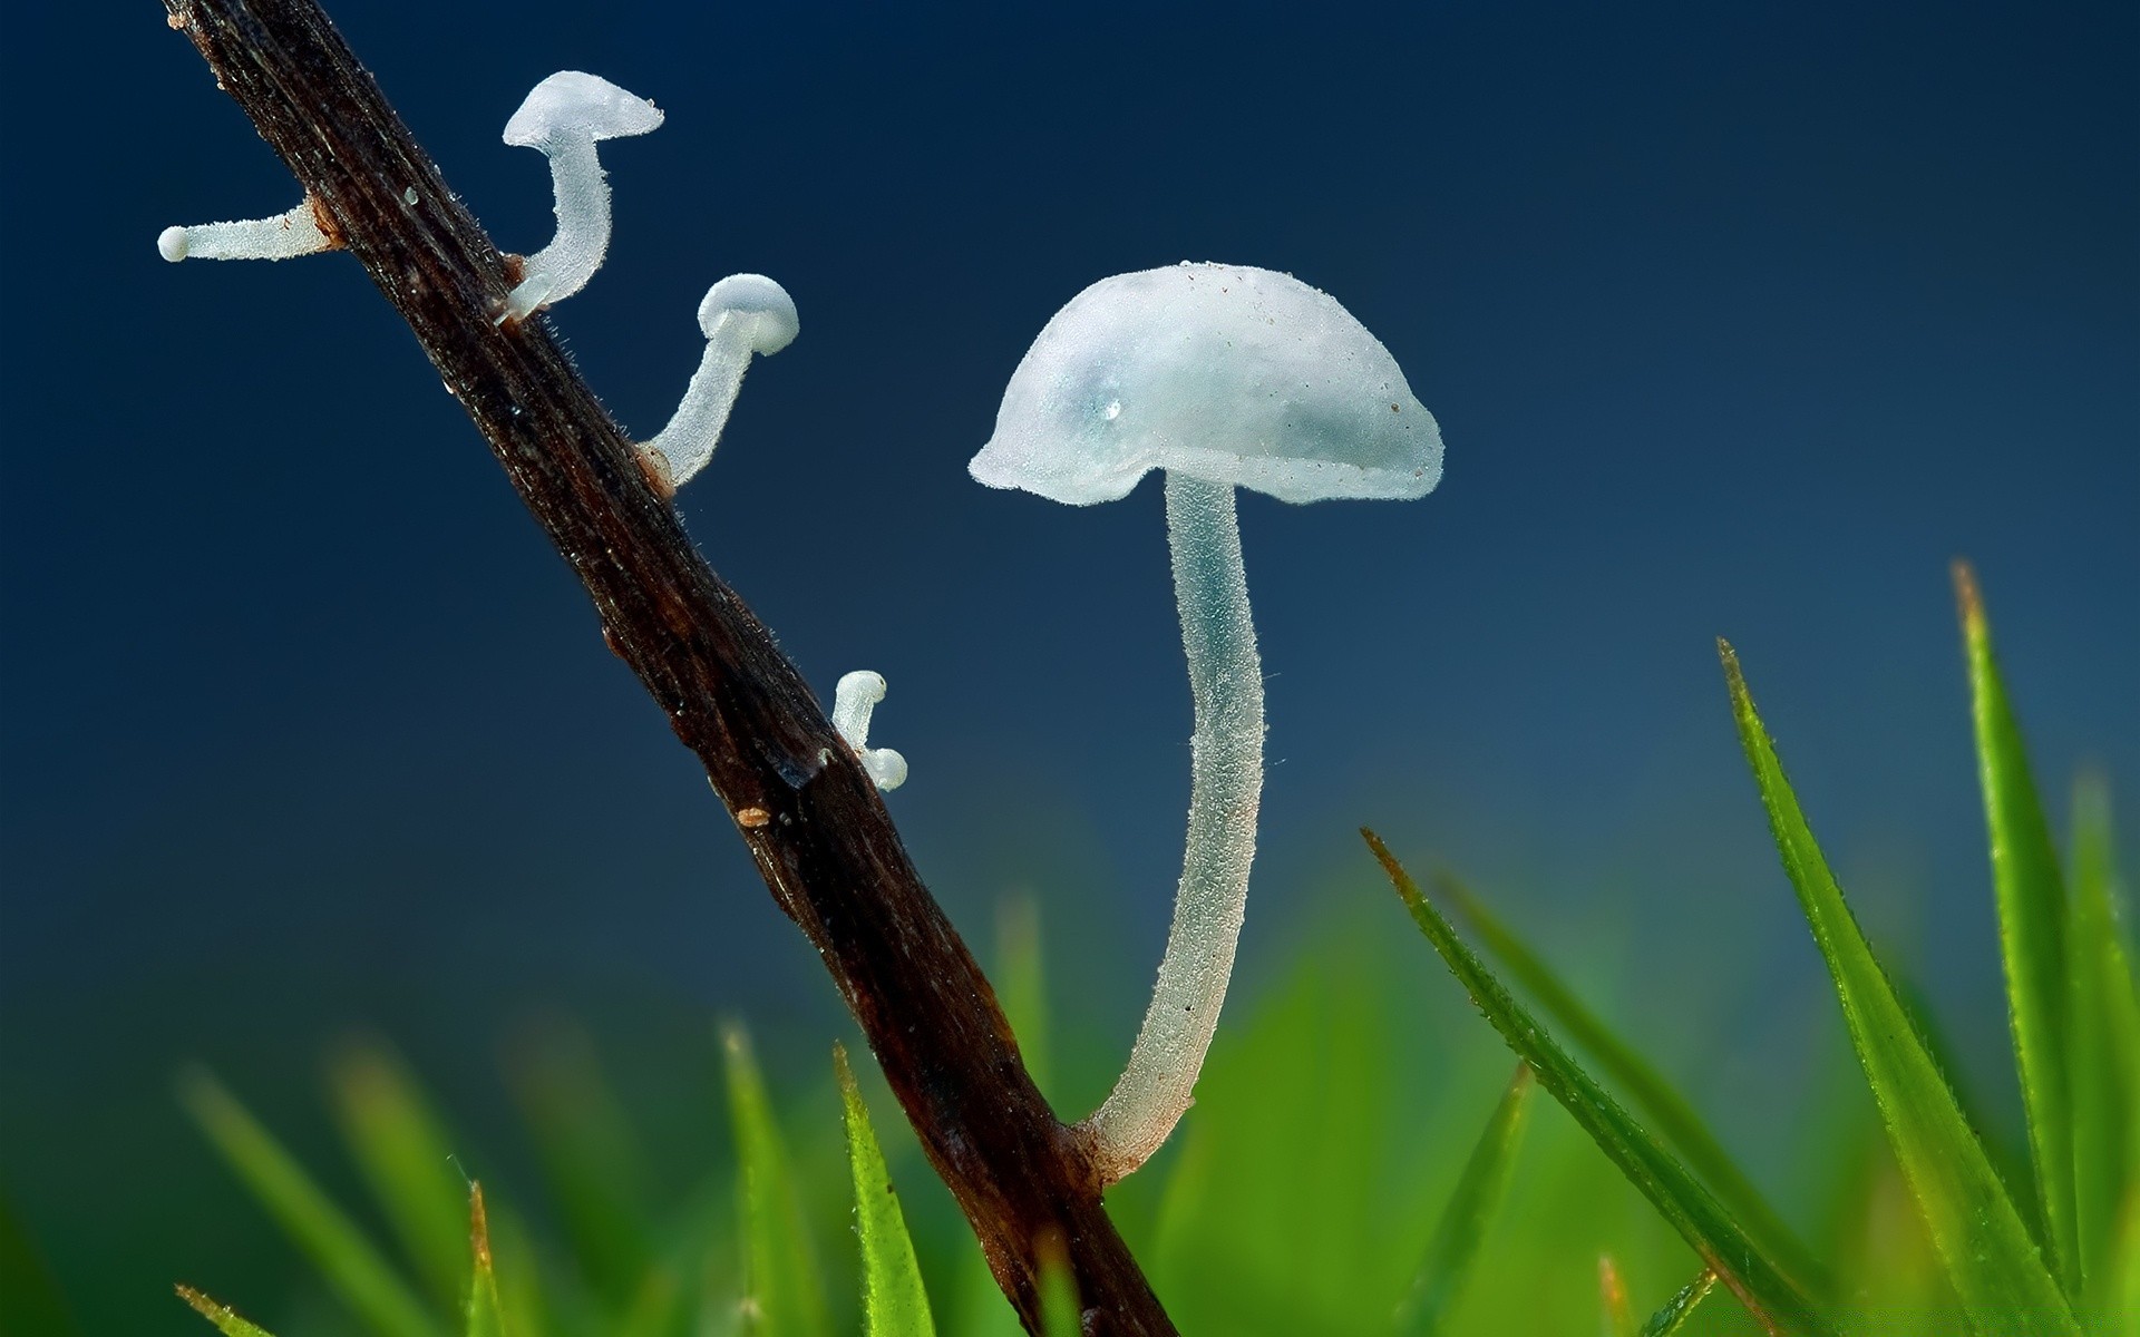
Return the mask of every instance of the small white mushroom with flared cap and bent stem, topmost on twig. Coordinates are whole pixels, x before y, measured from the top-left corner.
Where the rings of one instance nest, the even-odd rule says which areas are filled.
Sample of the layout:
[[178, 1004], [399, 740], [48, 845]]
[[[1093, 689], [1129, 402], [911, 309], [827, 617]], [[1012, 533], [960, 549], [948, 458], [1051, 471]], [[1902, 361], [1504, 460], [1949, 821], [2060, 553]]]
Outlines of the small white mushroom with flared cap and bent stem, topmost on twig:
[[595, 145], [644, 135], [661, 109], [597, 75], [559, 71], [535, 86], [505, 122], [505, 143], [541, 150], [556, 193], [556, 237], [526, 257], [520, 285], [505, 299], [503, 321], [563, 302], [595, 276], [610, 250], [610, 182]]

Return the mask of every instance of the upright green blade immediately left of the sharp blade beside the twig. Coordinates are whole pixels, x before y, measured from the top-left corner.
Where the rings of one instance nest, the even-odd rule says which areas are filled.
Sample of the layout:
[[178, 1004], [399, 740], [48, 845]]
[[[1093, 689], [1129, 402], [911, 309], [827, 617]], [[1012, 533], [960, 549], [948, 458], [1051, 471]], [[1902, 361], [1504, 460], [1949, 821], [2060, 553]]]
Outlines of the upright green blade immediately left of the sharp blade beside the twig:
[[766, 1337], [830, 1337], [817, 1254], [802, 1219], [796, 1189], [766, 1097], [766, 1080], [751, 1057], [743, 1027], [721, 1035], [728, 1052], [728, 1108], [736, 1125], [736, 1162], [743, 1168], [743, 1241], [749, 1305]]

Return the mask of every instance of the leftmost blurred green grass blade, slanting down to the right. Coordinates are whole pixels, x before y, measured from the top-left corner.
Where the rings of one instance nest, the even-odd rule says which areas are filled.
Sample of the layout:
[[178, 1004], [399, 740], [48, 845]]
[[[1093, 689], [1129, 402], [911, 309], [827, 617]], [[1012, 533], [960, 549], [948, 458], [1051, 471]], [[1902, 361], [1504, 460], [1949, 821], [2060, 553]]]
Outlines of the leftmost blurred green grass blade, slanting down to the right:
[[439, 1326], [394, 1266], [238, 1097], [195, 1070], [180, 1078], [180, 1100], [253, 1198], [372, 1333], [439, 1337]]

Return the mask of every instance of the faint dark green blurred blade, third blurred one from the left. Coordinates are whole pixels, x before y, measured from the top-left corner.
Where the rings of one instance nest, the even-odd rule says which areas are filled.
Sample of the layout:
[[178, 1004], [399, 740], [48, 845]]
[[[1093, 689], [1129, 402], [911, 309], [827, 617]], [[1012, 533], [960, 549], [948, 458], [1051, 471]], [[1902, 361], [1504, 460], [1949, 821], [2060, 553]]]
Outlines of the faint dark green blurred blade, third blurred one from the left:
[[511, 1076], [571, 1254], [603, 1305], [623, 1311], [655, 1262], [646, 1159], [623, 1102], [578, 1027], [533, 1038]]

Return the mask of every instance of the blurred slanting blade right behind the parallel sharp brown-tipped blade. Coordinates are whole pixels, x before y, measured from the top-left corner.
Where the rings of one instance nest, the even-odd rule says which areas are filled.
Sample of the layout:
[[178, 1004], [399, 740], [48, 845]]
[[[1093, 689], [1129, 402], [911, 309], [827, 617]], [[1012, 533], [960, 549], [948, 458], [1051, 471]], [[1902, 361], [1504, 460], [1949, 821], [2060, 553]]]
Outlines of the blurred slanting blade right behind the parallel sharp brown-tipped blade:
[[1808, 1284], [1815, 1294], [1834, 1294], [1828, 1269], [1783, 1224], [1783, 1217], [1768, 1204], [1761, 1189], [1746, 1179], [1738, 1162], [1731, 1159], [1731, 1153], [1710, 1132], [1710, 1125], [1665, 1080], [1665, 1074], [1641, 1057], [1635, 1046], [1620, 1040], [1596, 1012], [1584, 1005], [1575, 997], [1575, 990], [1562, 984], [1554, 969], [1500, 916], [1487, 909], [1464, 881], [1447, 871], [1438, 873], [1434, 881], [1442, 896], [1455, 903], [1457, 911], [1470, 920], [1487, 952], [1500, 958], [1502, 967], [1539, 1001], [1539, 1008], [1560, 1025], [1560, 1031], [1571, 1042], [1590, 1052], [1603, 1070], [1605, 1080], [1614, 1082], [1637, 1110], [1650, 1117], [1665, 1144], [1684, 1157], [1686, 1168], [1710, 1185], [1710, 1192], [1725, 1204], [1725, 1211], [1746, 1224], [1746, 1234], [1772, 1254], [1787, 1273]]

